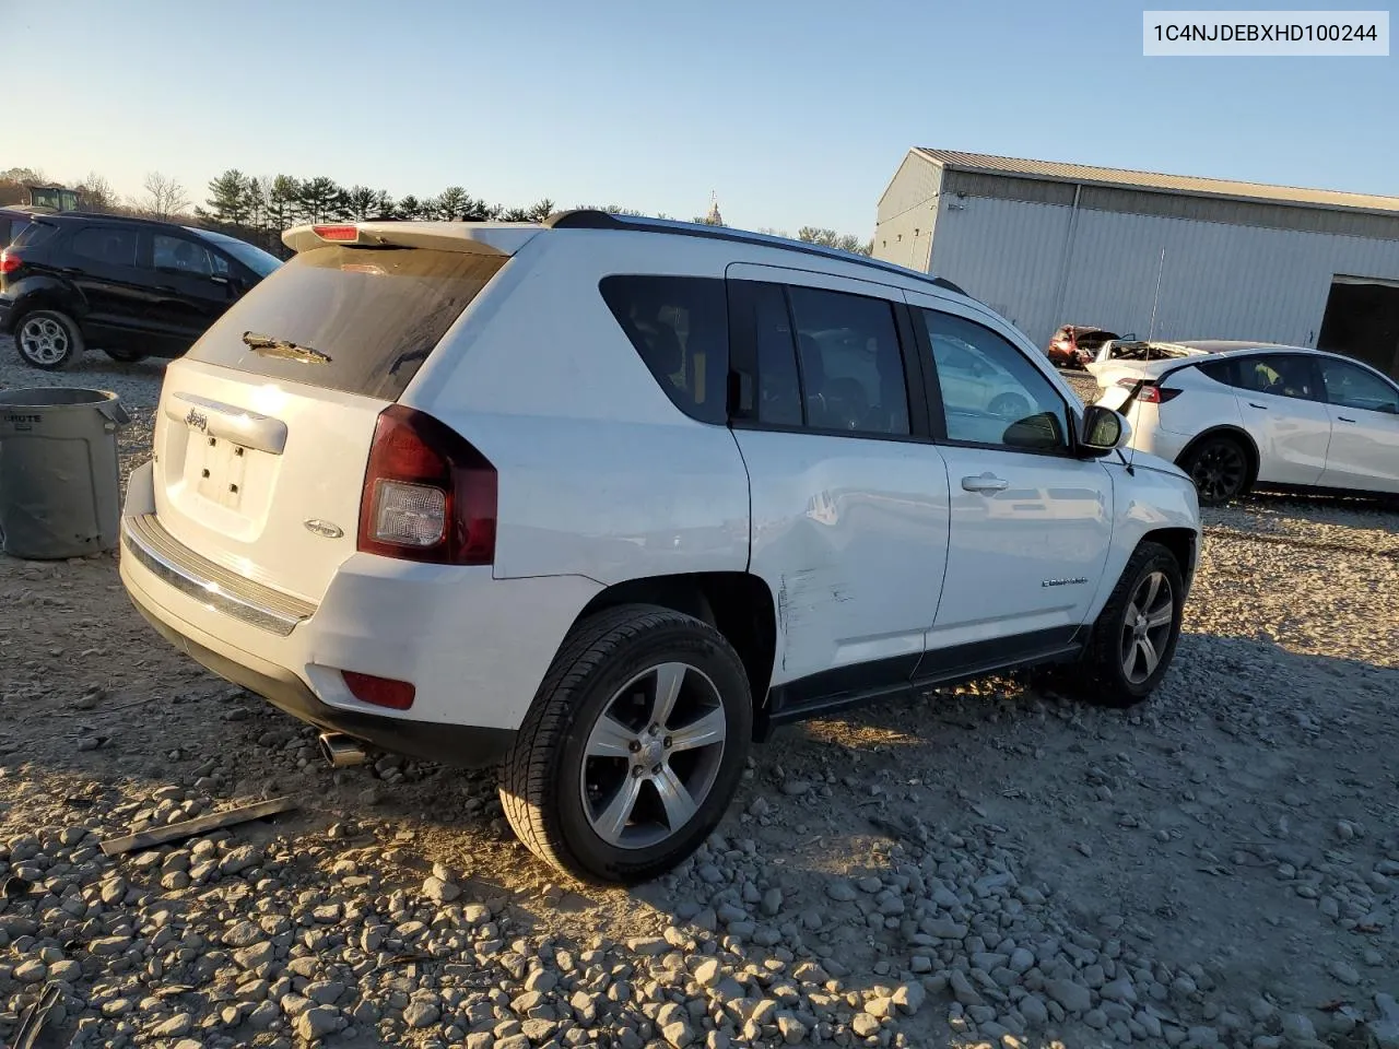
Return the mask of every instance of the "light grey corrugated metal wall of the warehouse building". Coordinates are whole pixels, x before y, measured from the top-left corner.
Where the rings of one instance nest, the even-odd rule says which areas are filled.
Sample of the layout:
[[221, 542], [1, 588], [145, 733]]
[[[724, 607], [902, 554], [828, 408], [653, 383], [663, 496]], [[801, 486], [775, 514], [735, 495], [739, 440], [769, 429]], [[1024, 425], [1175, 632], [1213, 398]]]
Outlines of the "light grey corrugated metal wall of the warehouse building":
[[1300, 345], [1316, 344], [1335, 274], [1399, 280], [1399, 241], [1080, 208], [1060, 304], [1072, 214], [1062, 204], [944, 194], [930, 271], [1041, 345], [1063, 323], [1147, 337], [1158, 271], [1157, 338]]

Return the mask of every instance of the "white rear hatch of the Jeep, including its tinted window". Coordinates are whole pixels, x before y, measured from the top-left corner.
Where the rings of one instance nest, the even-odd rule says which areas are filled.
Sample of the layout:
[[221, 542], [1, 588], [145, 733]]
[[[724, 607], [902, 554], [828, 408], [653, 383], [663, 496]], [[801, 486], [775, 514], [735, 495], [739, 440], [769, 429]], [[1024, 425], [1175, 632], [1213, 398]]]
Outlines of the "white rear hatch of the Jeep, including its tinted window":
[[169, 365], [154, 470], [175, 540], [320, 600], [355, 551], [379, 413], [527, 239], [428, 227], [290, 231], [299, 253]]

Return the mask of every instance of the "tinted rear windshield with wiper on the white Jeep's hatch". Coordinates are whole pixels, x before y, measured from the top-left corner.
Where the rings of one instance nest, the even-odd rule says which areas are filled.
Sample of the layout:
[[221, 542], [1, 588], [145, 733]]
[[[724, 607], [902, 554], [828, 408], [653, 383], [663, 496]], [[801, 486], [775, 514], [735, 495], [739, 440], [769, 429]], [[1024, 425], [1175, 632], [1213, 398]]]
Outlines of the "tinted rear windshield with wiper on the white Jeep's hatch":
[[[506, 260], [425, 248], [327, 245], [301, 252], [235, 302], [187, 357], [397, 400], [452, 322]], [[315, 354], [255, 352], [245, 333]]]

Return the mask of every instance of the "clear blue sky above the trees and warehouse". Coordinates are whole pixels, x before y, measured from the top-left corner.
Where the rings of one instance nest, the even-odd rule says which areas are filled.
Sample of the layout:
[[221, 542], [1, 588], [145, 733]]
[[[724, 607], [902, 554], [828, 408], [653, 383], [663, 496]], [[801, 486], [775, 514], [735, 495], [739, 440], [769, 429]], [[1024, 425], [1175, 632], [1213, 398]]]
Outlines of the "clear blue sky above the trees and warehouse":
[[1399, 196], [1399, 57], [1144, 59], [1121, 0], [49, 7], [0, 0], [32, 88], [0, 168], [127, 194], [239, 168], [690, 218], [715, 190], [733, 225], [869, 236], [932, 145]]

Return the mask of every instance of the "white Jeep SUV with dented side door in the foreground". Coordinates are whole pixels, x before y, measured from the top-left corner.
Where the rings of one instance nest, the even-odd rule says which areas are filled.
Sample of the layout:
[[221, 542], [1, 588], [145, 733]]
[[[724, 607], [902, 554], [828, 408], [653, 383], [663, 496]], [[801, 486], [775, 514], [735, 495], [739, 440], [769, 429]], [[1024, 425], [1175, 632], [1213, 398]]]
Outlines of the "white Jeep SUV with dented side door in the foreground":
[[[630, 883], [783, 722], [1046, 663], [1121, 705], [1167, 670], [1195, 488], [946, 281], [592, 211], [285, 241], [166, 371], [122, 579], [337, 762], [498, 764], [532, 850]], [[1021, 411], [946, 403], [943, 336]]]

